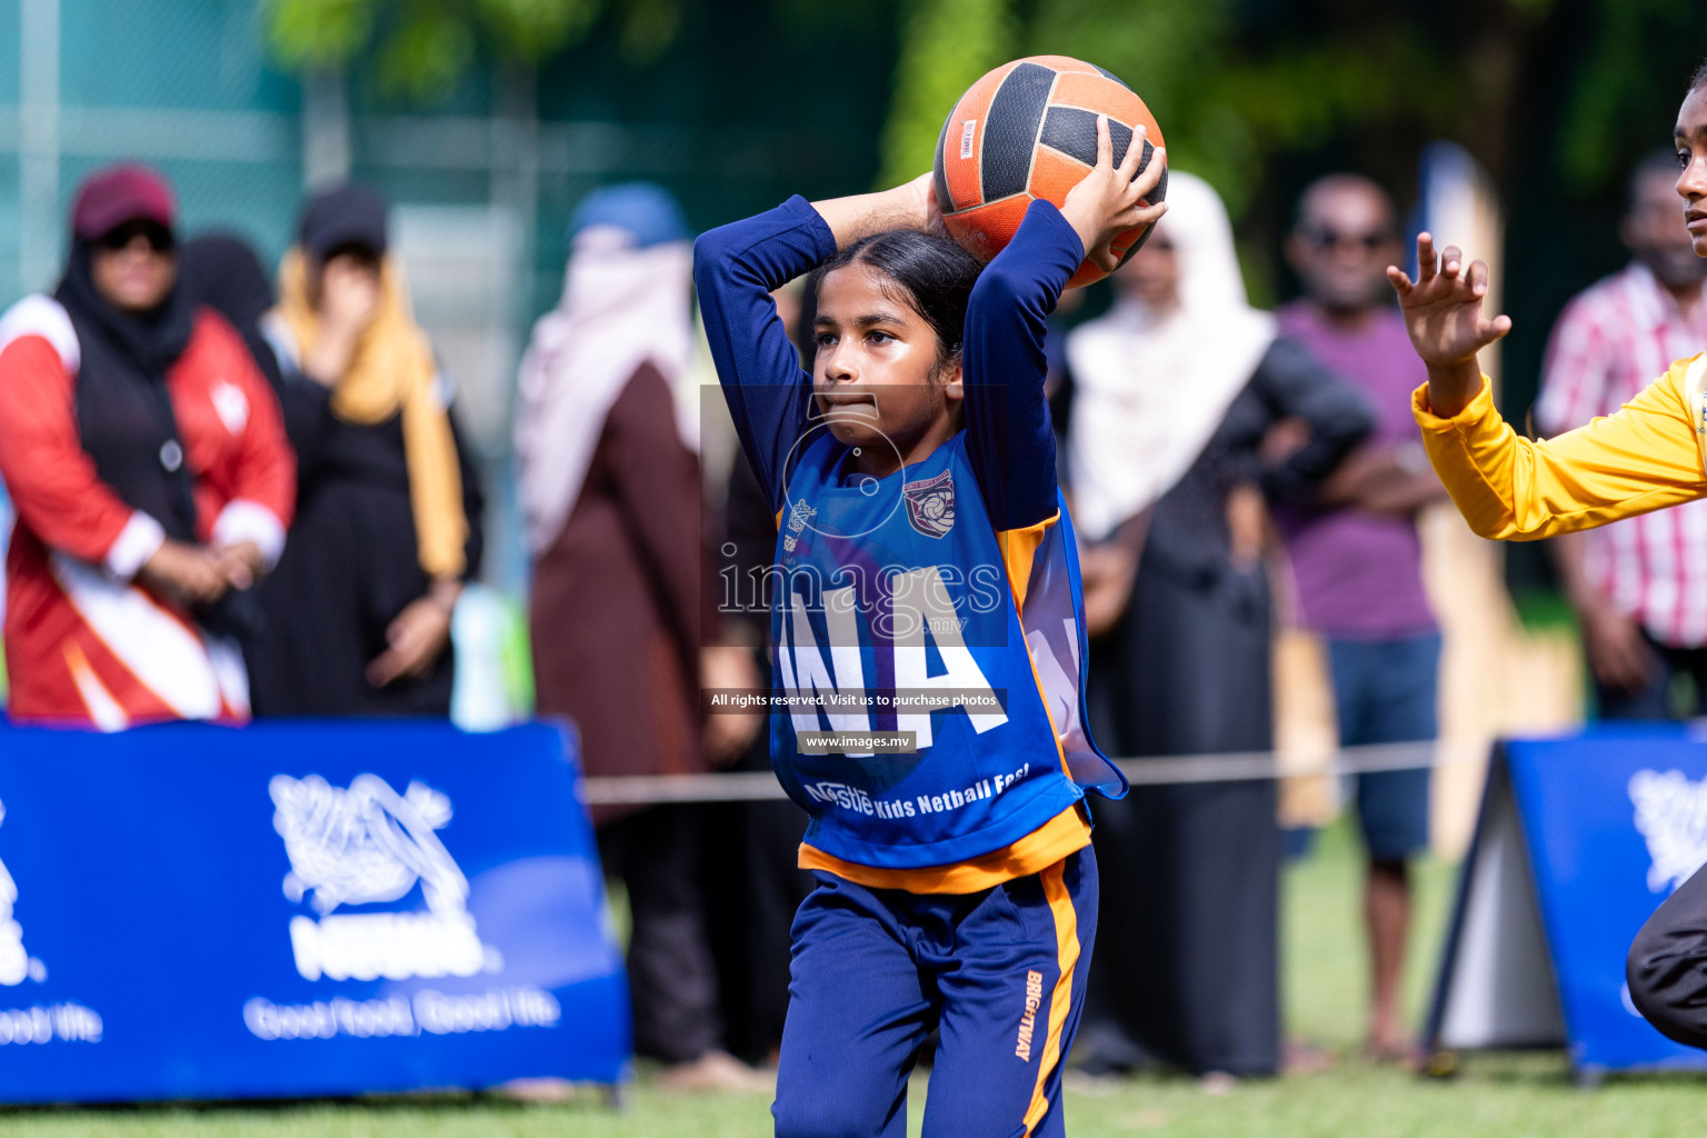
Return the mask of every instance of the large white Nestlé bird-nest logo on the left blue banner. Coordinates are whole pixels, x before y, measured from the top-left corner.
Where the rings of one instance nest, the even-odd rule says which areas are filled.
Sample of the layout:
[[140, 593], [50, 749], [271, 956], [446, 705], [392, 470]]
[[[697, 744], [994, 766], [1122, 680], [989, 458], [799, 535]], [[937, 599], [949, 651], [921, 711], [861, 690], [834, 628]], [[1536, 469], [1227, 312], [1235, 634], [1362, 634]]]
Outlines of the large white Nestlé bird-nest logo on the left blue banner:
[[[273, 829], [285, 839], [290, 901], [321, 916], [290, 920], [297, 973], [307, 979], [411, 979], [497, 973], [502, 957], [475, 935], [468, 879], [439, 841], [451, 800], [422, 783], [401, 795], [377, 775], [348, 788], [319, 775], [268, 785]], [[405, 897], [417, 884], [427, 911], [335, 913]], [[312, 897], [309, 894], [312, 892]]]

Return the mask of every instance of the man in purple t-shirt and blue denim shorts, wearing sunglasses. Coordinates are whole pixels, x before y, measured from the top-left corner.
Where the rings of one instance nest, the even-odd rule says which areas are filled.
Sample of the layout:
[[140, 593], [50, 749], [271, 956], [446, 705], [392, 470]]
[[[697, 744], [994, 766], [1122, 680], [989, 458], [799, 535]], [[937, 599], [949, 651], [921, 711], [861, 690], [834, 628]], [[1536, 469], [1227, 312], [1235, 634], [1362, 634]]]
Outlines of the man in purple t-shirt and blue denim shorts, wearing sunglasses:
[[[1386, 266], [1400, 258], [1388, 195], [1367, 177], [1331, 174], [1299, 201], [1285, 246], [1304, 297], [1280, 311], [1280, 333], [1367, 396], [1376, 430], [1323, 488], [1328, 508], [1282, 508], [1304, 624], [1326, 642], [1340, 746], [1434, 739], [1441, 633], [1422, 587], [1417, 510], [1444, 496], [1410, 413], [1424, 382], [1407, 351]], [[1371, 1058], [1413, 1048], [1398, 1008], [1410, 926], [1410, 858], [1429, 845], [1429, 771], [1359, 775], [1367, 848]]]

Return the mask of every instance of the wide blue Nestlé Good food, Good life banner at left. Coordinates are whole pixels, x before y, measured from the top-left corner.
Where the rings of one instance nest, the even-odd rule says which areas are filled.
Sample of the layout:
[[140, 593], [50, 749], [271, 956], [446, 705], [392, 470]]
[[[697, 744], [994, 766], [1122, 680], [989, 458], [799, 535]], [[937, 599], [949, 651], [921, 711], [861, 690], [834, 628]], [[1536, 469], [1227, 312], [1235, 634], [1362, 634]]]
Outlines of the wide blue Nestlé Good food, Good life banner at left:
[[616, 1082], [563, 734], [0, 727], [0, 1102]]

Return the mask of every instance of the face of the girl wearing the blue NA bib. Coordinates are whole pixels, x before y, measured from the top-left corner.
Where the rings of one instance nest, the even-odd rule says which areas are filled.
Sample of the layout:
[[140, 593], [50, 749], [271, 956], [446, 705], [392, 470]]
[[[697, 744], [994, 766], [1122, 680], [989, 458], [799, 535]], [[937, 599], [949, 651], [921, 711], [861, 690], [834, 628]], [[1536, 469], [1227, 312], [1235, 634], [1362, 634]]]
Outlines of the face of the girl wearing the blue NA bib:
[[935, 329], [894, 292], [869, 264], [838, 268], [818, 285], [814, 324], [818, 413], [879, 478], [953, 437], [964, 398], [959, 362], [937, 362]]

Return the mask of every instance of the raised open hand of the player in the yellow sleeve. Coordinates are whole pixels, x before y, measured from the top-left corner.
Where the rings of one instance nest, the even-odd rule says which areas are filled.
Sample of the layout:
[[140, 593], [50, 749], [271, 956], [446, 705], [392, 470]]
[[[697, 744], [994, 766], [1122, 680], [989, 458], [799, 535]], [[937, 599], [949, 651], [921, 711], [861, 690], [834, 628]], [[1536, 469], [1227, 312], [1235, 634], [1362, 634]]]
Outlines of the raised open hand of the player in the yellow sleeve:
[[1417, 280], [1398, 266], [1388, 266], [1388, 280], [1398, 292], [1410, 345], [1429, 365], [1429, 401], [1436, 415], [1451, 418], [1465, 409], [1482, 389], [1477, 353], [1511, 331], [1509, 316], [1489, 319], [1482, 302], [1489, 292], [1489, 266], [1473, 261], [1465, 266], [1458, 246], [1436, 254], [1434, 237], [1417, 235]]

